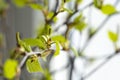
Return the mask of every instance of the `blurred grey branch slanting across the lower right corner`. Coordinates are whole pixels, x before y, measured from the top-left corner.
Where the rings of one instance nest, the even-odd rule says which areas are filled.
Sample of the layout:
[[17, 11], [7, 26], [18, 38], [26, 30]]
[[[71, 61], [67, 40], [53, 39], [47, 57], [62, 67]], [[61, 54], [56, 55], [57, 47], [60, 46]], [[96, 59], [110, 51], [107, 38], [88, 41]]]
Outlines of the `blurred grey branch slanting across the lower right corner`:
[[100, 63], [98, 66], [96, 66], [93, 70], [91, 70], [88, 74], [86, 74], [85, 76], [82, 77], [81, 80], [85, 80], [87, 78], [89, 78], [91, 75], [93, 75], [97, 70], [99, 70], [101, 67], [103, 67], [106, 63], [108, 63], [116, 54], [118, 53], [114, 53], [110, 56], [108, 56], [102, 63]]

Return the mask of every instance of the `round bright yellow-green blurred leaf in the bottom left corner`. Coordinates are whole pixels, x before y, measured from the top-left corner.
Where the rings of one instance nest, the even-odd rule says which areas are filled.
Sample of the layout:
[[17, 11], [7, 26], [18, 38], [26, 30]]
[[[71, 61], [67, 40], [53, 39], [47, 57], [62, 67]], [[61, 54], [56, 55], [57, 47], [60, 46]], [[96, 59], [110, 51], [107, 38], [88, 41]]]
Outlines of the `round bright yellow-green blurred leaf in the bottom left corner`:
[[6, 60], [3, 67], [3, 71], [4, 71], [4, 76], [7, 79], [13, 79], [15, 77], [17, 65], [18, 65], [18, 62], [16, 60], [12, 60], [12, 59]]

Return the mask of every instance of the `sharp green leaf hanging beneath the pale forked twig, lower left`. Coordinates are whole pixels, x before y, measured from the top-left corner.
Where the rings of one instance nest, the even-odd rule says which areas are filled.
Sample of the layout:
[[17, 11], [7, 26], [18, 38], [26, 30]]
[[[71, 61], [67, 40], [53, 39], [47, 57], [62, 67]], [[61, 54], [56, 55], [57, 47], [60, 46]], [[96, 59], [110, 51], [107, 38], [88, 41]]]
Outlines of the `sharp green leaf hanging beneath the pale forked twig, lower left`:
[[28, 72], [33, 73], [33, 72], [43, 72], [43, 69], [39, 63], [39, 60], [37, 58], [37, 56], [31, 56], [30, 58], [28, 58], [27, 62], [26, 62], [26, 67]]

